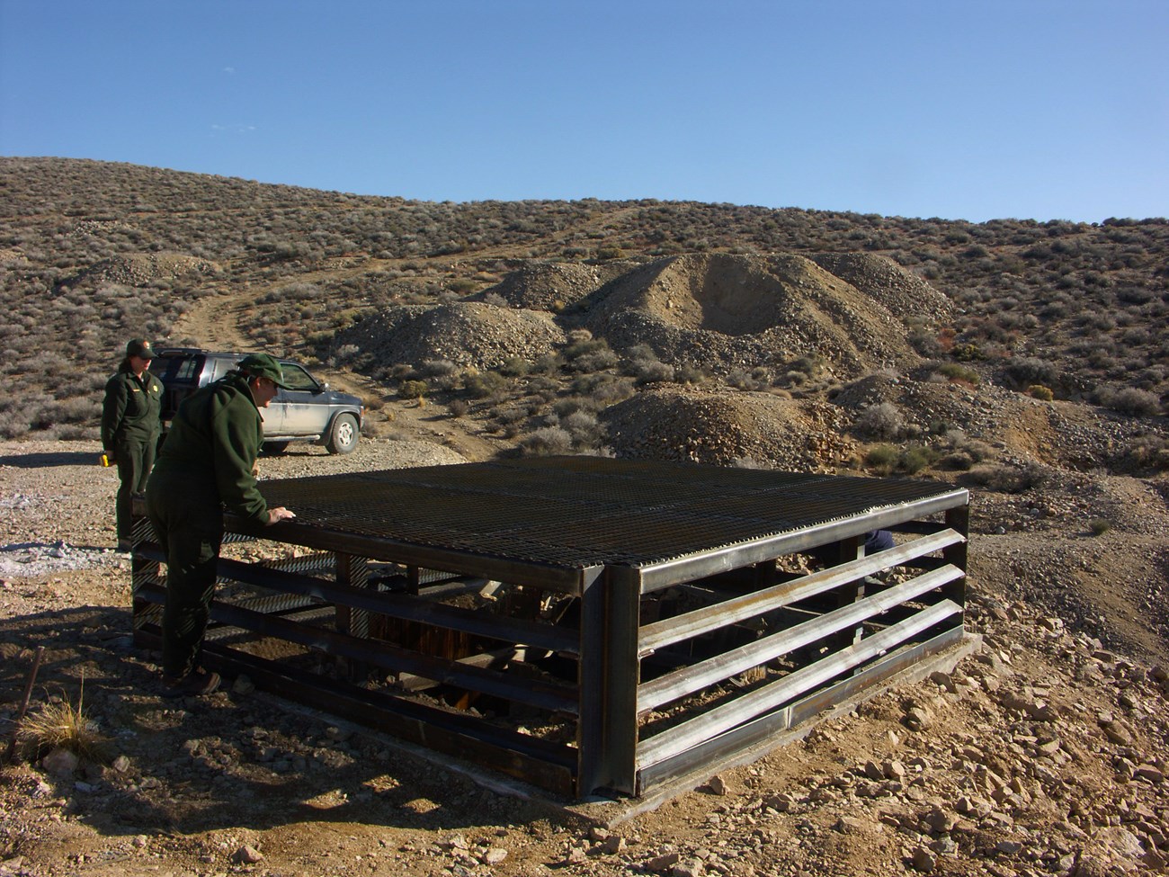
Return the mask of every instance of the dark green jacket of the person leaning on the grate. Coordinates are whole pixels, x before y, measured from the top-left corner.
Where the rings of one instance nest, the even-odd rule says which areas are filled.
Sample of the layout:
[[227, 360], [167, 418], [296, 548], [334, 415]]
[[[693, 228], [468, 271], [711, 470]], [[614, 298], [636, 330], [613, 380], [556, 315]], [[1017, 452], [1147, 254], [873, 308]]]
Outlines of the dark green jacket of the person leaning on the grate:
[[251, 474], [263, 442], [260, 409], [247, 380], [233, 372], [179, 405], [146, 492], [165, 490], [174, 502], [217, 493], [228, 511], [267, 524], [268, 503]]

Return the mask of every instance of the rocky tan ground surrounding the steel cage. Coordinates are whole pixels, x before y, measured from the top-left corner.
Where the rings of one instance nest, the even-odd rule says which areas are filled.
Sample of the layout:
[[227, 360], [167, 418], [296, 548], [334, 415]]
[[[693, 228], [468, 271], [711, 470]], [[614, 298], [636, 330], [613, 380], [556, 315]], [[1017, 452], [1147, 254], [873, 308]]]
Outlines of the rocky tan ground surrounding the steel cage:
[[[454, 447], [482, 441], [411, 440], [410, 416], [347, 457], [292, 446], [263, 476], [457, 462]], [[160, 698], [158, 656], [131, 642], [127, 561], [108, 550], [116, 476], [97, 450], [0, 446], [0, 731], [43, 647], [30, 711], [79, 702], [108, 738], [102, 759], [20, 750], [2, 768], [5, 877], [1167, 871], [1165, 638], [1130, 593], [1163, 582], [1167, 515], [1143, 482], [987, 493], [971, 543], [980, 654], [602, 824], [245, 684]], [[1100, 509], [1115, 526], [1092, 537]]]

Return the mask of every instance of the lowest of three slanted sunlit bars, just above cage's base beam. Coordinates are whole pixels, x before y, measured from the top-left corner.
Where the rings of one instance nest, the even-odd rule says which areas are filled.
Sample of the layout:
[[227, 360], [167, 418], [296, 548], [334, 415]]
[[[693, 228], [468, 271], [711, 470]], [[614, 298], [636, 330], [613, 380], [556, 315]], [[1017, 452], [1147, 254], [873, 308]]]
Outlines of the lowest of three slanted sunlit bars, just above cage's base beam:
[[728, 704], [717, 706], [703, 716], [655, 734], [638, 744], [637, 764], [638, 766], [652, 765], [671, 758], [703, 740], [729, 731], [755, 716], [782, 706], [788, 700], [895, 648], [949, 616], [961, 615], [961, 612], [962, 608], [957, 603], [943, 600], [899, 624], [835, 651], [815, 664], [801, 668], [782, 679], [750, 691]]

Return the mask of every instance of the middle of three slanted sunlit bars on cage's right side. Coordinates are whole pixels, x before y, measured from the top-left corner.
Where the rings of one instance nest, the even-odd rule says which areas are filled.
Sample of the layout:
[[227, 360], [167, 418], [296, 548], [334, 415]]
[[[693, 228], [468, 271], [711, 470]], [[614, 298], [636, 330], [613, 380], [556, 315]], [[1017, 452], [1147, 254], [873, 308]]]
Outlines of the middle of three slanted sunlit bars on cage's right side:
[[637, 689], [637, 712], [644, 713], [684, 695], [700, 691], [722, 679], [749, 670], [772, 658], [810, 645], [830, 634], [855, 627], [887, 612], [907, 600], [921, 596], [942, 585], [961, 579], [964, 573], [954, 566], [935, 569], [878, 594], [842, 606], [811, 621], [780, 630], [761, 640], [729, 649], [692, 667], [665, 674]]

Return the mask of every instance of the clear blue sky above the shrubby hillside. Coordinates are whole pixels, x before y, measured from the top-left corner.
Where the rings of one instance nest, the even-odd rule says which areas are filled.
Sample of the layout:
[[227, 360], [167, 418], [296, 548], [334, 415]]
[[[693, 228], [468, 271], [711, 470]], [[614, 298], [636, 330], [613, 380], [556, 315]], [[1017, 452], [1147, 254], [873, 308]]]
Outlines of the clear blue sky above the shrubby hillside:
[[428, 201], [1169, 215], [1167, 0], [0, 0], [0, 156]]

